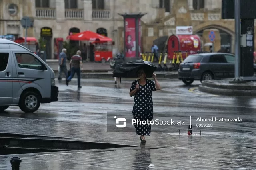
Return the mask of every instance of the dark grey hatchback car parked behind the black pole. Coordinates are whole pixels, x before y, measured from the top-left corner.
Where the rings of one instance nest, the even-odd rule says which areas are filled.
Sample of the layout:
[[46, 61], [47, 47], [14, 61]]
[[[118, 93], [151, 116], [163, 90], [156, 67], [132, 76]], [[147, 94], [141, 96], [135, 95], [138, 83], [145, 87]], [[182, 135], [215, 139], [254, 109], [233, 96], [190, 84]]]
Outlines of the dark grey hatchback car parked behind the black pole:
[[[185, 84], [194, 80], [234, 78], [235, 56], [230, 53], [200, 53], [189, 55], [179, 66], [178, 79]], [[256, 72], [256, 64], [254, 64]]]

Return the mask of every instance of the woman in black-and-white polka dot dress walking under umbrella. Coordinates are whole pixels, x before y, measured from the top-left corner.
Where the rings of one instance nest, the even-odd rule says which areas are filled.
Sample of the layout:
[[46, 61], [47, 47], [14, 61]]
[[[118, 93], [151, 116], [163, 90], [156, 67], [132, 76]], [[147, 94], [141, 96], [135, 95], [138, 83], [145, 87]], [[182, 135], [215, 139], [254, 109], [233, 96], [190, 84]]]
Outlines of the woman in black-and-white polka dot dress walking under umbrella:
[[[134, 96], [134, 106], [132, 109], [133, 119], [142, 121], [151, 121], [153, 119], [153, 101], [152, 91], [161, 90], [156, 74], [152, 76], [154, 81], [146, 79], [145, 71], [138, 71], [139, 80], [132, 82], [130, 96]], [[150, 136], [151, 125], [142, 123], [134, 124], [137, 135], [140, 135], [141, 143], [146, 143], [145, 136]]]

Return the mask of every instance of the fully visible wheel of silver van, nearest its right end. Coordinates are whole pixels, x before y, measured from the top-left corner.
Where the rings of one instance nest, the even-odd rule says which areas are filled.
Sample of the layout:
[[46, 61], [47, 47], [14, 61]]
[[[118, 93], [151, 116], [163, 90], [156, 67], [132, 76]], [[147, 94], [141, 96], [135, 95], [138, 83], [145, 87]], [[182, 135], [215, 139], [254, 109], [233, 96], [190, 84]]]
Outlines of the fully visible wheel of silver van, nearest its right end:
[[25, 113], [34, 113], [41, 104], [41, 97], [38, 93], [28, 91], [20, 97], [19, 107]]

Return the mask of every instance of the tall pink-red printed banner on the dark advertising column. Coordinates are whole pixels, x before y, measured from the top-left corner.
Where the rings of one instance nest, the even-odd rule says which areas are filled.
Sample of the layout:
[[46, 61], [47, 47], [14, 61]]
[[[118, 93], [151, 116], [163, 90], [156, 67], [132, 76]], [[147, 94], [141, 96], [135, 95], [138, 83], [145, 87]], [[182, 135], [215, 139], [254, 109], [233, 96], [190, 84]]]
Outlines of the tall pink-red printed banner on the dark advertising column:
[[125, 19], [125, 57], [136, 57], [135, 20]]

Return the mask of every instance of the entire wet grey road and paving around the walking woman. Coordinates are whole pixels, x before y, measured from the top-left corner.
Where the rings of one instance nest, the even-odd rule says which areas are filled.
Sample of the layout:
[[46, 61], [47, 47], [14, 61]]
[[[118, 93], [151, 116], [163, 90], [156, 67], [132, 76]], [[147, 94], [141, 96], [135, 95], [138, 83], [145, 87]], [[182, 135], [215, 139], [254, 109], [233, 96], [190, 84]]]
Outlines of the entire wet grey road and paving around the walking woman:
[[[176, 80], [159, 81], [162, 90], [153, 92], [154, 117], [184, 120], [186, 125], [152, 125], [146, 145], [140, 144], [134, 128], [129, 132], [107, 129], [107, 113], [131, 112], [133, 98], [128, 93], [132, 79], [122, 79], [120, 86], [112, 79], [86, 79], [80, 90], [76, 79], [69, 86], [57, 81], [58, 102], [42, 104], [32, 114], [10, 107], [1, 113], [0, 131], [137, 146], [19, 155], [21, 170], [256, 169], [256, 98], [199, 92], [198, 81], [191, 86]], [[193, 135], [188, 136], [190, 116]], [[239, 117], [241, 121], [198, 122], [198, 117]], [[9, 160], [10, 156], [0, 156], [1, 170], [11, 169]], [[154, 168], [148, 168], [150, 164]]]

